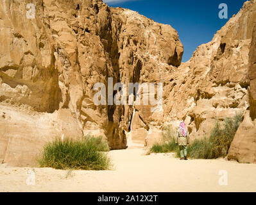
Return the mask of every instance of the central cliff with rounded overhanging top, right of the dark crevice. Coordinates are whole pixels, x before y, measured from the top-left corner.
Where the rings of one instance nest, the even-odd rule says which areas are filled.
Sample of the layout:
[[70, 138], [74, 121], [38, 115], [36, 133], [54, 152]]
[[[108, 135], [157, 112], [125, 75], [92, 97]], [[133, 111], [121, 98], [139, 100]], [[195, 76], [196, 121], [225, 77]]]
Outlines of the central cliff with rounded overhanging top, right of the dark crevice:
[[[111, 11], [115, 23], [112, 28], [119, 33], [115, 36], [117, 38], [113, 38], [118, 45], [119, 82], [126, 87], [128, 83], [168, 83], [167, 76], [175, 66], [180, 65], [183, 54], [183, 46], [175, 29], [131, 10], [111, 8]], [[149, 95], [149, 90], [142, 90], [141, 99], [146, 95]], [[150, 118], [154, 117], [151, 112], [153, 107], [120, 108], [124, 115], [119, 122], [119, 130], [124, 131], [125, 136], [130, 136], [131, 146], [145, 144], [146, 136], [150, 133]]]

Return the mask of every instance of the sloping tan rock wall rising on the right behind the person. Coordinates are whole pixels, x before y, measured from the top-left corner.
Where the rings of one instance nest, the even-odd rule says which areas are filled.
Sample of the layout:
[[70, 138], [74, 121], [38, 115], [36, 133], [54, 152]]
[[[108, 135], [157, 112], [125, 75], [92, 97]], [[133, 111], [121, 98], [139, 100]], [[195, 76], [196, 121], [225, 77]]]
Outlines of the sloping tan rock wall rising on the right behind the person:
[[[228, 153], [229, 160], [256, 162], [255, 49], [256, 1], [246, 1], [211, 42], [200, 45], [191, 60], [169, 69], [164, 83], [164, 102], [157, 113], [135, 111], [129, 137], [144, 138], [150, 147], [162, 141], [161, 129], [176, 128], [181, 120], [191, 139], [209, 136], [216, 120], [243, 114]], [[156, 73], [157, 74], [157, 73]], [[153, 81], [153, 76], [151, 80]], [[143, 139], [143, 140], [142, 140]]]

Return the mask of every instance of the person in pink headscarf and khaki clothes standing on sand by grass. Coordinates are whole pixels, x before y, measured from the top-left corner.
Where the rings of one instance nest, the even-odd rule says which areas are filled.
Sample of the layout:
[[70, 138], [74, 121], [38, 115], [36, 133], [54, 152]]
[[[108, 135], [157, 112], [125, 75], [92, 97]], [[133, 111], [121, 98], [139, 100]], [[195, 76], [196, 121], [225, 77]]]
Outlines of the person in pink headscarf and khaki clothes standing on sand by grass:
[[189, 133], [184, 122], [180, 122], [180, 129], [175, 138], [176, 145], [180, 147], [180, 160], [187, 160], [187, 145], [189, 144]]

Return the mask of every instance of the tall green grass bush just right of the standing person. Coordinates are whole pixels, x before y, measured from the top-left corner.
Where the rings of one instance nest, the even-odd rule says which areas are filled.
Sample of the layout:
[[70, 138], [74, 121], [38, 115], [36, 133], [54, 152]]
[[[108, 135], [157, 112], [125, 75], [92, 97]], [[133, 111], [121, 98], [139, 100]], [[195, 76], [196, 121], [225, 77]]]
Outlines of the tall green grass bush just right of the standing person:
[[[209, 138], [194, 140], [188, 146], [187, 152], [190, 158], [194, 159], [216, 159], [225, 157], [234, 139], [235, 133], [242, 121], [242, 114], [235, 115], [234, 118], [226, 118], [224, 125], [221, 126], [216, 122], [210, 132]], [[179, 157], [180, 152], [177, 150], [176, 155]]]

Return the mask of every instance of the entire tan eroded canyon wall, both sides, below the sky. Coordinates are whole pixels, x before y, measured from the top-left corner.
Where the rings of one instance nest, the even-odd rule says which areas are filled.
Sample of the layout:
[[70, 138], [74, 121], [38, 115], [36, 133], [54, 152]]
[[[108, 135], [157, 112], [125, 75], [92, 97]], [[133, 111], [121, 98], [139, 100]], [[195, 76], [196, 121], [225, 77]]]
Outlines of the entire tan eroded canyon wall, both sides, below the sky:
[[[256, 162], [255, 0], [186, 63], [175, 29], [137, 12], [99, 0], [33, 2], [35, 19], [26, 15], [30, 1], [0, 3], [1, 163], [37, 165], [43, 145], [59, 137], [150, 147], [181, 120], [194, 140], [236, 113], [243, 122], [228, 159]], [[162, 83], [163, 99], [96, 106], [94, 85], [108, 88], [109, 79], [126, 87]], [[151, 94], [141, 91], [139, 99]]]

